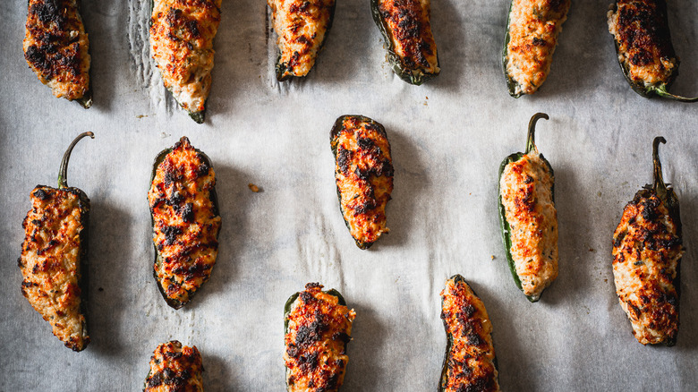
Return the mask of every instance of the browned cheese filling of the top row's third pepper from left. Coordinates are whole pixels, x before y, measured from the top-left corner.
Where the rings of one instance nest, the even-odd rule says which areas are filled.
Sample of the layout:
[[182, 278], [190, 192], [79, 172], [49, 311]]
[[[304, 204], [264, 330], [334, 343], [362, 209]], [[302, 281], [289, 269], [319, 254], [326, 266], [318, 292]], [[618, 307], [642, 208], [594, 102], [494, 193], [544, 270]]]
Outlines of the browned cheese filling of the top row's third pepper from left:
[[267, 0], [277, 32], [277, 79], [302, 77], [311, 72], [325, 44], [335, 0]]

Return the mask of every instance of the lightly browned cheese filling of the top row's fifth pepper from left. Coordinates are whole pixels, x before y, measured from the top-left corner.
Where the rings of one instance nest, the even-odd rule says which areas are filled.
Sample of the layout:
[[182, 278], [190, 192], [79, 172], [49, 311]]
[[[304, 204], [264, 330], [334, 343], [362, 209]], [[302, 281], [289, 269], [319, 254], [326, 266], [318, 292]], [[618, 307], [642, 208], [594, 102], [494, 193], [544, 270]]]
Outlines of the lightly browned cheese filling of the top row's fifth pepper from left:
[[548, 78], [569, 7], [570, 0], [513, 0], [506, 73], [518, 84], [515, 93], [532, 94]]

